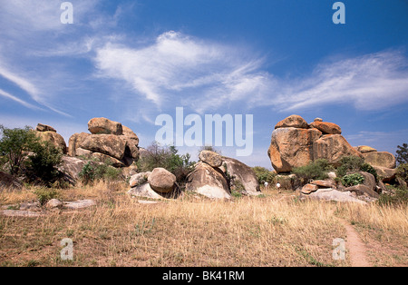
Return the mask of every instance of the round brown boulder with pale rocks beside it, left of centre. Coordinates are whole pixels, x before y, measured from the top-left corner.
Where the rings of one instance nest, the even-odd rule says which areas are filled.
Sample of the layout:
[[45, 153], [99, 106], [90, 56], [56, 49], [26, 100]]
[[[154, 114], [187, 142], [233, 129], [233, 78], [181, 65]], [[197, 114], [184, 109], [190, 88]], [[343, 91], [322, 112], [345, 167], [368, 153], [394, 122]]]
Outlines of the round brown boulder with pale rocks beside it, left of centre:
[[129, 194], [151, 199], [178, 198], [180, 188], [176, 176], [164, 168], [141, 172], [131, 177]]

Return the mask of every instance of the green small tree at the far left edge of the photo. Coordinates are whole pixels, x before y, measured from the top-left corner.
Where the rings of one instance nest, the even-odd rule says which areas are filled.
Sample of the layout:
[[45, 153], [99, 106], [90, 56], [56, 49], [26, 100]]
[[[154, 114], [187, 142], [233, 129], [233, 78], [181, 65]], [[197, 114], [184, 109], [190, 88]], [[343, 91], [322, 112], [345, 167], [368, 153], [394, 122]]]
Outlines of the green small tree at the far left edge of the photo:
[[24, 129], [8, 129], [0, 125], [0, 155], [9, 163], [10, 174], [17, 175], [21, 171], [25, 155], [32, 152], [39, 142], [29, 126]]

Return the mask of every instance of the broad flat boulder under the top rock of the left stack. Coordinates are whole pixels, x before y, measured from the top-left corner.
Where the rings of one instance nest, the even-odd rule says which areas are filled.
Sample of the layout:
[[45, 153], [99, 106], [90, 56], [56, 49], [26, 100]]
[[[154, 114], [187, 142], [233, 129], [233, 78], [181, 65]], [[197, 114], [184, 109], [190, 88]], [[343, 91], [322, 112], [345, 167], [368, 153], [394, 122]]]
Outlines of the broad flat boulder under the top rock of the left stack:
[[119, 135], [92, 134], [85, 138], [80, 147], [91, 152], [107, 154], [121, 161], [126, 152], [126, 141]]

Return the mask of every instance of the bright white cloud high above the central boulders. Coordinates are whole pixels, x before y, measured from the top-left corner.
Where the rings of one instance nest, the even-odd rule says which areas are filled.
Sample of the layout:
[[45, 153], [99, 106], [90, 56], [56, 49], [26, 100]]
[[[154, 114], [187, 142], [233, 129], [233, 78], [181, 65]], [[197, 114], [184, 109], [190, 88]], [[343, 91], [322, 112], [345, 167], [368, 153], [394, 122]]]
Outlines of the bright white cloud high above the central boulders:
[[140, 48], [106, 44], [97, 50], [95, 63], [101, 76], [125, 81], [158, 108], [182, 102], [203, 111], [246, 99], [268, 84], [267, 74], [257, 71], [262, 60], [250, 55], [170, 31]]

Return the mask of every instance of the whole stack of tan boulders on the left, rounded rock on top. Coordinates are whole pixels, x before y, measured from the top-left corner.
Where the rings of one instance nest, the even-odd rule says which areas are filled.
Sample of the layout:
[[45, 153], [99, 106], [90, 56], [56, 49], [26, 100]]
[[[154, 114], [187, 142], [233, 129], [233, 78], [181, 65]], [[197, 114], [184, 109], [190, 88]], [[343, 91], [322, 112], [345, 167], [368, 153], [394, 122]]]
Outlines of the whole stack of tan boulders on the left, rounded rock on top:
[[94, 118], [88, 123], [90, 133], [74, 133], [69, 140], [72, 157], [97, 159], [112, 166], [128, 167], [139, 159], [139, 138], [121, 123]]

